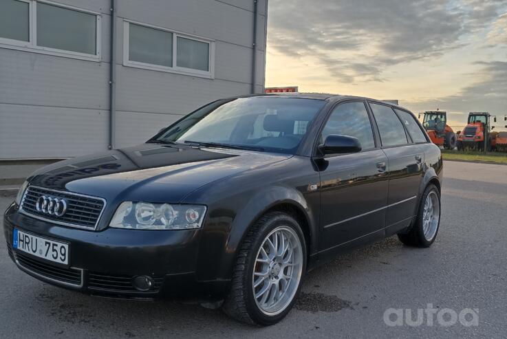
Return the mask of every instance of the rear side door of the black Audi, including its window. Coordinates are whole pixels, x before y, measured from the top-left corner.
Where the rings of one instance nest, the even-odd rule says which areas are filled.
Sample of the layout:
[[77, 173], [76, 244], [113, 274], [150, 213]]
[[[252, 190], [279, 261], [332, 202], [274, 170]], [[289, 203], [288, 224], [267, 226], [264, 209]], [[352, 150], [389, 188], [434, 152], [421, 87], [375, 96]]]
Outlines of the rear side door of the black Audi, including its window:
[[427, 138], [411, 113], [395, 112], [377, 102], [369, 106], [389, 162], [386, 235], [390, 235], [409, 226], [416, 213]]

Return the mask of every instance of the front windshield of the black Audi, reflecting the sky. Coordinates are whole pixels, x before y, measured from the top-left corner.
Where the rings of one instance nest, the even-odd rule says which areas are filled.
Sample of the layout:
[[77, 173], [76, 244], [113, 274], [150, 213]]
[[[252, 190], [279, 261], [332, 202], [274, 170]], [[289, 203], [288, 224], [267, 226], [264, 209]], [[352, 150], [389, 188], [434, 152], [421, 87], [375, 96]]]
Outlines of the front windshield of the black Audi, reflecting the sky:
[[323, 100], [267, 96], [219, 100], [173, 124], [154, 141], [293, 154], [324, 105]]

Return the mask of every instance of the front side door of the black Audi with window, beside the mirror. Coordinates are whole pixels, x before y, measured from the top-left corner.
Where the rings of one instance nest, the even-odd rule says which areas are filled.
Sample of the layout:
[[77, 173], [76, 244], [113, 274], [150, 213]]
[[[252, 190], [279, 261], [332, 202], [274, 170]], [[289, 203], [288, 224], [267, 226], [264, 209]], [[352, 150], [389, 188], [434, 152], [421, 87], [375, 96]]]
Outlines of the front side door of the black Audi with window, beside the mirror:
[[319, 242], [320, 250], [326, 254], [380, 239], [384, 234], [387, 157], [376, 144], [365, 104], [363, 100], [339, 103], [321, 132], [321, 143], [327, 135], [341, 134], [358, 138], [363, 148], [359, 153], [326, 155], [321, 159]]

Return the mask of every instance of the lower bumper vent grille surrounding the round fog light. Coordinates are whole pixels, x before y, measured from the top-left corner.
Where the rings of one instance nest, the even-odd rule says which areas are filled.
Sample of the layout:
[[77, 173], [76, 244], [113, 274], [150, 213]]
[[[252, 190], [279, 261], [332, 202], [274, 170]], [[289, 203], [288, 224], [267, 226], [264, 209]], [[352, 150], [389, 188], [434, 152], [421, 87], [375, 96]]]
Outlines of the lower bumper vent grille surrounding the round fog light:
[[[104, 274], [98, 272], [88, 273], [88, 288], [104, 292], [139, 292], [132, 285], [133, 276], [118, 275], [118, 274]], [[153, 287], [147, 292], [158, 292], [162, 283], [164, 282], [163, 276], [151, 276], [153, 279]], [[143, 293], [147, 293], [143, 292]]]

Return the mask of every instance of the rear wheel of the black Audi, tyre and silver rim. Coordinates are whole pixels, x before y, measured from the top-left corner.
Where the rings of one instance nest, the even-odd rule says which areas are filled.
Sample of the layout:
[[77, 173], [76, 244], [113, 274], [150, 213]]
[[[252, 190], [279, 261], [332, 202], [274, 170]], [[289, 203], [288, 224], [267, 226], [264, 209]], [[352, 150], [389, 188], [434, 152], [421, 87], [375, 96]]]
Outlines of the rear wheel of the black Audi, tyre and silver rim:
[[[431, 225], [429, 228], [425, 226], [428, 224], [424, 223], [424, 218], [428, 216], [424, 212], [427, 210], [427, 199], [431, 199], [432, 204], [438, 206], [438, 210], [431, 210], [431, 217], [438, 217], [438, 219], [435, 220], [435, 223], [433, 223], [433, 219], [429, 221], [429, 225]], [[431, 246], [440, 228], [440, 210], [440, 193], [438, 192], [438, 188], [433, 184], [429, 184], [422, 194], [416, 220], [407, 233], [398, 233], [398, 239], [405, 245], [413, 247], [427, 248]]]

